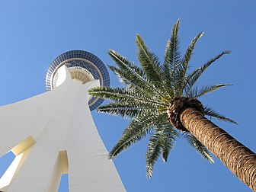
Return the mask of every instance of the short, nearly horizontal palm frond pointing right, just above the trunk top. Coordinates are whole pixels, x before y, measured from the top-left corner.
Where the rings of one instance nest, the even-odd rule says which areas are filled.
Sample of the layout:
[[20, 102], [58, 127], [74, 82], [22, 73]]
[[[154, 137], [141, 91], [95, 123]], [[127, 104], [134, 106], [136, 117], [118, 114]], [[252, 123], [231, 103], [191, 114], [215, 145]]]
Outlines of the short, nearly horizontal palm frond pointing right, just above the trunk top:
[[200, 98], [204, 94], [208, 94], [212, 91], [216, 91], [218, 88], [222, 88], [225, 86], [229, 86], [232, 84], [219, 84], [219, 85], [212, 85], [212, 86], [204, 86], [198, 89], [197, 87], [192, 88], [189, 94], [187, 94], [188, 97], [190, 98]]

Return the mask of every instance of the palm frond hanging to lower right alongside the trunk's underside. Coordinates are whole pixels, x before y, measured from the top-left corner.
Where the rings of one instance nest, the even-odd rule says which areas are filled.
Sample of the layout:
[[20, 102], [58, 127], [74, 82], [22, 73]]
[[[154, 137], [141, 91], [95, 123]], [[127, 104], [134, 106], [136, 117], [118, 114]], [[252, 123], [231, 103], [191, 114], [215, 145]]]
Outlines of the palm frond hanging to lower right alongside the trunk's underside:
[[214, 163], [213, 156], [210, 155], [208, 149], [206, 149], [206, 147], [203, 146], [203, 144], [199, 140], [197, 140], [197, 138], [192, 136], [191, 133], [184, 133], [184, 137], [190, 144], [190, 146], [193, 146], [194, 149], [196, 149], [197, 152], [199, 152], [203, 156], [203, 158], [206, 158], [210, 163]]

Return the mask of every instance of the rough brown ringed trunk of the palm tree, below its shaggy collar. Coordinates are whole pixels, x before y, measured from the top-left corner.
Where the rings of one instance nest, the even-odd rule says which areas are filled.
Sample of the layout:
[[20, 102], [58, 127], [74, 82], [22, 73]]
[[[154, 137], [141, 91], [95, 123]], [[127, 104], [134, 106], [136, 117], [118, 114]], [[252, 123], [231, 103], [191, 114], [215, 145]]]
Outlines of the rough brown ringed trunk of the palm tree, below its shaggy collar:
[[182, 111], [181, 123], [233, 174], [256, 191], [256, 155], [254, 152], [207, 120], [194, 108], [189, 107]]

